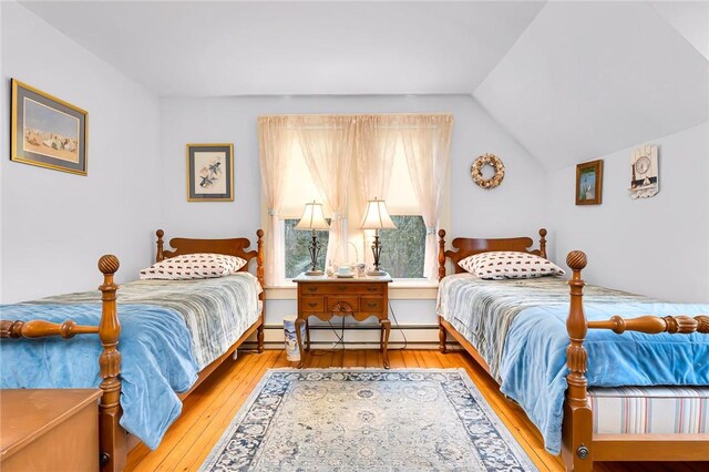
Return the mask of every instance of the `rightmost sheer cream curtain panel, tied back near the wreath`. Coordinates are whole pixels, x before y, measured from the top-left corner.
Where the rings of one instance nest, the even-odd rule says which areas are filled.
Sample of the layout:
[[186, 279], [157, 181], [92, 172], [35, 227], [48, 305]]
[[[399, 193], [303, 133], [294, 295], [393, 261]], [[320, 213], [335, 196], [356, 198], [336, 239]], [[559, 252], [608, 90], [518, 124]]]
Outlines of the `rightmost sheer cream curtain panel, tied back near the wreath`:
[[429, 280], [435, 280], [438, 274], [435, 232], [448, 176], [452, 130], [452, 115], [408, 115], [401, 119], [401, 136], [411, 183], [427, 227], [423, 276]]

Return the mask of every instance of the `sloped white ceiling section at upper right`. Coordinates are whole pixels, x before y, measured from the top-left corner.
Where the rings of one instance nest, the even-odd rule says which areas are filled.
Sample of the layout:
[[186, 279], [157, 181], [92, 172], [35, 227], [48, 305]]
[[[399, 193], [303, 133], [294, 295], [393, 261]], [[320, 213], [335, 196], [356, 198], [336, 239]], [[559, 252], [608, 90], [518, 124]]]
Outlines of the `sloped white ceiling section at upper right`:
[[648, 3], [549, 2], [473, 96], [561, 168], [709, 120], [709, 62]]

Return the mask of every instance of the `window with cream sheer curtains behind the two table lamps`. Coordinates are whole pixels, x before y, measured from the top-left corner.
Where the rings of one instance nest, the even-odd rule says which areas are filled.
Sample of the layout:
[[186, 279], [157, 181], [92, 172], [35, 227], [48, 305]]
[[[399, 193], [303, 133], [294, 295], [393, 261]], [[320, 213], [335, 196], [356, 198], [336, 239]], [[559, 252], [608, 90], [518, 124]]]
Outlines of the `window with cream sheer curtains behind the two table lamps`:
[[[379, 116], [386, 117], [377, 121]], [[392, 132], [383, 131], [380, 132], [382, 134], [376, 134], [377, 131], [369, 131], [372, 130], [372, 127], [368, 127], [372, 126], [372, 119], [376, 123], [374, 130], [377, 130], [376, 126], [381, 126], [379, 130], [395, 130], [393, 137]], [[297, 230], [295, 226], [299, 222], [305, 204], [314, 201], [325, 204], [323, 213], [328, 219], [341, 222], [337, 225], [336, 230], [317, 233], [318, 242], [321, 245], [317, 267], [325, 269], [330, 264], [363, 261], [371, 268], [373, 266], [371, 250], [373, 230], [362, 230], [359, 226], [366, 202], [376, 197], [387, 203], [389, 214], [397, 225], [395, 229], [384, 229], [379, 233], [382, 245], [381, 268], [394, 279], [428, 278], [434, 280], [434, 274], [432, 275], [434, 261], [432, 259], [436, 256], [433, 247], [435, 242], [421, 216], [409, 160], [413, 160], [412, 162], [415, 163], [412, 165], [415, 165], [413, 168], [415, 168], [418, 178], [417, 185], [422, 185], [422, 170], [430, 168], [430, 174], [423, 174], [423, 176], [430, 175], [428, 178], [431, 181], [423, 185], [425, 188], [435, 188], [433, 192], [443, 192], [443, 195], [439, 194], [439, 196], [432, 197], [425, 191], [422, 198], [425, 198], [427, 205], [431, 198], [443, 198], [443, 204], [436, 211], [435, 218], [441, 226], [445, 226], [449, 211], [444, 207], [450, 204], [450, 195], [448, 191], [444, 191], [448, 176], [443, 174], [445, 171], [441, 172], [441, 170], [445, 168], [443, 164], [448, 163], [450, 142], [445, 142], [444, 137], [450, 136], [451, 123], [450, 115], [259, 117], [259, 138], [270, 140], [264, 141], [268, 144], [266, 147], [261, 146], [261, 150], [267, 150], [266, 157], [261, 154], [261, 162], [266, 163], [265, 165], [274, 163], [277, 167], [270, 168], [285, 171], [280, 177], [271, 174], [274, 182], [280, 178], [279, 184], [276, 184], [278, 186], [274, 187], [278, 188], [277, 193], [267, 187], [268, 198], [275, 198], [274, 195], [278, 195], [279, 208], [264, 207], [267, 228], [271, 228], [278, 235], [271, 239], [274, 246], [270, 254], [275, 254], [276, 257], [273, 259], [275, 267], [266, 267], [267, 281], [270, 285], [280, 285], [284, 278], [297, 277], [309, 268], [311, 264], [309, 253], [311, 234]], [[361, 131], [360, 124], [362, 125]], [[348, 130], [351, 130], [349, 136], [354, 136], [352, 142], [356, 144], [349, 144], [350, 142], [346, 141], [350, 138], [346, 137]], [[358, 141], [360, 138], [358, 136], [361, 136], [361, 142]], [[422, 141], [413, 141], [414, 144], [411, 144], [412, 138]], [[434, 142], [429, 140], [434, 140]], [[301, 144], [307, 147], [301, 147]], [[338, 151], [330, 152], [330, 150], [338, 150], [340, 145], [342, 150], [347, 148], [352, 152], [351, 163], [348, 164], [347, 155], [341, 161], [329, 158], [330, 155], [343, 155]], [[428, 156], [432, 156], [430, 164], [425, 162]], [[391, 165], [386, 171], [384, 167], [381, 167], [382, 173], [387, 174], [387, 177], [383, 178], [389, 179], [388, 185], [382, 185], [377, 181], [383, 176], [383, 174], [377, 175], [379, 172], [377, 166], [380, 162], [388, 162]], [[430, 167], [428, 167], [429, 165]], [[372, 170], [372, 172], [363, 170]], [[282, 178], [282, 175], [286, 178]], [[323, 176], [327, 176], [327, 181], [323, 181]], [[318, 182], [322, 183], [323, 188], [318, 187], [316, 177]], [[337, 194], [337, 188], [343, 188], [343, 178], [349, 179], [345, 184], [349, 191], [346, 195]], [[373, 188], [380, 188], [376, 192], [386, 193], [386, 195], [364, 195], [364, 184], [369, 186], [370, 192], [373, 192]], [[328, 202], [323, 198], [326, 193], [329, 198], [337, 198], [333, 206], [337, 206], [339, 215], [327, 207]], [[271, 216], [269, 217], [267, 214]], [[273, 215], [277, 215], [277, 218], [273, 218]], [[332, 226], [332, 223], [330, 225]], [[269, 274], [274, 275], [270, 281]]]

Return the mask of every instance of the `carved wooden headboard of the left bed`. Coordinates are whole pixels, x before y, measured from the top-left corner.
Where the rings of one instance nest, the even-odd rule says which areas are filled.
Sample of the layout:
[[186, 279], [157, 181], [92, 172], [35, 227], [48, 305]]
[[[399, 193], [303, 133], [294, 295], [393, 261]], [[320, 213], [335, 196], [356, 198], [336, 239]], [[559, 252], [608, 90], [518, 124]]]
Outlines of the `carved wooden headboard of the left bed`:
[[[165, 250], [163, 248], [163, 236], [165, 232], [158, 229], [155, 232], [157, 236], [157, 261], [175, 256], [182, 256], [185, 254], [195, 253], [214, 253], [225, 254], [227, 256], [237, 256], [245, 259], [247, 263], [253, 258], [256, 258], [256, 277], [258, 281], [264, 286], [264, 230], [258, 229], [256, 232], [256, 249], [247, 250], [251, 245], [251, 242], [246, 237], [237, 237], [232, 239], [193, 239], [185, 237], [176, 237], [169, 240], [169, 246], [174, 250]], [[248, 264], [239, 269], [239, 271], [248, 271]]]

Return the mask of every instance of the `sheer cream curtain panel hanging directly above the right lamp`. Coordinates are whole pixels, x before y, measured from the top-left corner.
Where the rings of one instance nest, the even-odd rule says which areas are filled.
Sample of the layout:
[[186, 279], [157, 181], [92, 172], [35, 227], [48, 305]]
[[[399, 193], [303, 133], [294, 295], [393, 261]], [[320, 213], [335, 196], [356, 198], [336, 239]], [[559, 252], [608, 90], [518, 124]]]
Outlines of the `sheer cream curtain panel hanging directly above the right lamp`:
[[[362, 115], [357, 123], [357, 206], [364, 215], [367, 201], [387, 201], [391, 170], [399, 140], [399, 117], [395, 115]], [[367, 250], [368, 238], [362, 235], [363, 259], [373, 261], [371, 250]]]

